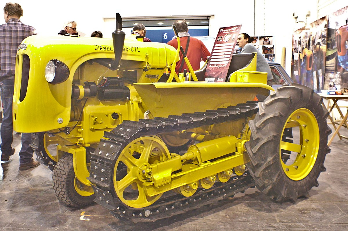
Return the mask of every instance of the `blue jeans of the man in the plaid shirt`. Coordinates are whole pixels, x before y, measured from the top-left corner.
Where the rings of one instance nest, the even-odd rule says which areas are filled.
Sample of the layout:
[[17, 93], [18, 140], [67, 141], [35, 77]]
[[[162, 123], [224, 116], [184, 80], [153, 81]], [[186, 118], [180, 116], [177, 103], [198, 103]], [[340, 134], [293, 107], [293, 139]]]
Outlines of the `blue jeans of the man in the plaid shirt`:
[[[15, 85], [14, 78], [2, 80], [1, 100], [3, 102], [3, 118], [0, 128], [1, 135], [1, 153], [10, 154], [13, 142], [13, 120], [12, 120], [12, 100]], [[25, 164], [31, 161], [33, 150], [29, 146], [31, 144], [31, 133], [22, 133], [22, 148], [19, 151], [19, 163]]]

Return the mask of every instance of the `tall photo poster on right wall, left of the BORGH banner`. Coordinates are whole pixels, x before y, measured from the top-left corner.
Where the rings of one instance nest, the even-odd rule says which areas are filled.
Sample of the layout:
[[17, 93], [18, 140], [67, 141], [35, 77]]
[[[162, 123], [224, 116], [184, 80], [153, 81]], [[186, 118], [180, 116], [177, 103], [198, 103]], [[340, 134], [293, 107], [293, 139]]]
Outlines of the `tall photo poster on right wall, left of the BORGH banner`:
[[291, 78], [315, 92], [324, 89], [327, 17], [293, 33]]

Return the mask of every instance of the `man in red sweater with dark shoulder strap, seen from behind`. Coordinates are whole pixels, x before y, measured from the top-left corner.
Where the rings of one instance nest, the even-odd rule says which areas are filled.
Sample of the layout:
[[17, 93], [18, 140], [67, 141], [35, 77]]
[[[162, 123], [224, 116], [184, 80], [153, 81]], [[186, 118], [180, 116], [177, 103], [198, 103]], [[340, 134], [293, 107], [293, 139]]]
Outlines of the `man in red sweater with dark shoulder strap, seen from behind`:
[[[207, 57], [210, 56], [210, 52], [204, 45], [202, 41], [197, 38], [190, 37], [188, 33], [187, 23], [185, 19], [176, 20], [173, 23], [175, 25], [176, 31], [180, 37], [180, 44], [184, 49], [187, 58], [189, 59], [193, 70], [200, 69], [200, 60], [204, 62], [207, 60]], [[167, 43], [168, 45], [174, 46], [177, 49], [176, 36], [173, 37], [171, 41]], [[178, 74], [184, 69], [189, 69], [184, 61], [183, 55], [180, 52], [180, 61], [176, 63], [175, 72]]]

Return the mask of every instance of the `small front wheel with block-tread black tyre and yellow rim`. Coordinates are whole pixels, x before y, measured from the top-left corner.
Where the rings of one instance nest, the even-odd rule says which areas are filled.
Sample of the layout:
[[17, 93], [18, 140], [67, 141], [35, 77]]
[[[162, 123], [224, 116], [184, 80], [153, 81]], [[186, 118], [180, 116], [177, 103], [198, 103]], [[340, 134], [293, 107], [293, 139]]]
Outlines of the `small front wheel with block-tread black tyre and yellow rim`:
[[[87, 166], [89, 165], [87, 164]], [[54, 167], [52, 185], [58, 200], [69, 207], [78, 208], [90, 205], [95, 198], [92, 187], [77, 179], [73, 157], [69, 154], [64, 154]]]

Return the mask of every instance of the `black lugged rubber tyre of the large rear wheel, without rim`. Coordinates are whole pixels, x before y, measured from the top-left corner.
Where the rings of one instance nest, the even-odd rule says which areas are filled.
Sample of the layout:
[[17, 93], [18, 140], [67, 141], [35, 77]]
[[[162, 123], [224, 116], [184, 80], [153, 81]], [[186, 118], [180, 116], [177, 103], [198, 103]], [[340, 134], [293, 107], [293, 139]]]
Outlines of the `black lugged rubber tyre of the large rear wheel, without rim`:
[[[270, 198], [295, 202], [298, 197], [308, 197], [309, 190], [319, 185], [317, 178], [326, 170], [323, 163], [330, 152], [327, 136], [331, 133], [326, 123], [327, 110], [321, 104], [322, 98], [313, 89], [300, 84], [279, 87], [278, 92], [272, 92], [259, 103], [259, 112], [249, 122], [251, 137], [245, 145], [250, 156], [247, 167], [256, 187]], [[313, 169], [302, 180], [294, 181], [282, 169], [279, 145], [285, 121], [299, 108], [307, 108], [315, 115], [320, 138]]]

